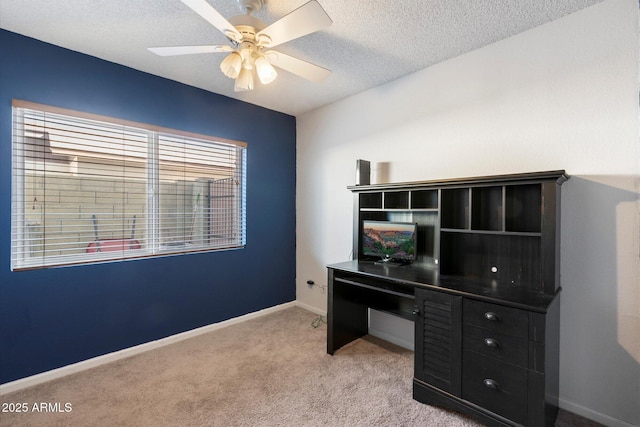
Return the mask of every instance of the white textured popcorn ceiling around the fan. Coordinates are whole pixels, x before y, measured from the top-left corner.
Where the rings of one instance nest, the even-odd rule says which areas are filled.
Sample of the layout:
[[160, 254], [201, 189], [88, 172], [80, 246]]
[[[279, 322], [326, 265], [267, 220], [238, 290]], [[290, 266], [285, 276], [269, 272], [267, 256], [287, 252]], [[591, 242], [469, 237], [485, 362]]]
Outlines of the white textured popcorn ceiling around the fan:
[[[209, 0], [225, 17], [235, 0]], [[276, 48], [332, 70], [313, 83], [279, 70], [234, 92], [225, 54], [159, 57], [147, 47], [228, 44], [179, 0], [0, 0], [0, 27], [137, 70], [299, 115], [478, 49], [601, 0], [319, 0], [333, 24]], [[267, 0], [268, 24], [306, 0]]]

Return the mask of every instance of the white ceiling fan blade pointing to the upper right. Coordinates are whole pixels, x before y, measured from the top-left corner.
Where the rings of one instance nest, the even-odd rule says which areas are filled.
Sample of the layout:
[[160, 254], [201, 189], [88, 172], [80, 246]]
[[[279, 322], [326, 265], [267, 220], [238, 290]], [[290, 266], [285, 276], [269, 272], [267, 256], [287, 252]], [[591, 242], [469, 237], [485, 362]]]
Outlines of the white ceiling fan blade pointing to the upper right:
[[320, 3], [311, 0], [260, 31], [256, 37], [260, 40], [260, 36], [266, 35], [271, 40], [267, 39], [261, 44], [265, 47], [274, 47], [321, 30], [332, 23], [333, 21]]

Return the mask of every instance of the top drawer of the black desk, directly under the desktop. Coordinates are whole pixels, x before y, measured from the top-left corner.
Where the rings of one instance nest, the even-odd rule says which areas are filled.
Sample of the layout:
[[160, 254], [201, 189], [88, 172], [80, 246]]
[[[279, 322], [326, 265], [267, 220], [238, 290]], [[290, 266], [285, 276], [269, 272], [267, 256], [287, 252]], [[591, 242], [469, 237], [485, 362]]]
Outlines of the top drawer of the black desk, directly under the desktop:
[[462, 321], [504, 335], [528, 337], [528, 313], [517, 308], [465, 298]]

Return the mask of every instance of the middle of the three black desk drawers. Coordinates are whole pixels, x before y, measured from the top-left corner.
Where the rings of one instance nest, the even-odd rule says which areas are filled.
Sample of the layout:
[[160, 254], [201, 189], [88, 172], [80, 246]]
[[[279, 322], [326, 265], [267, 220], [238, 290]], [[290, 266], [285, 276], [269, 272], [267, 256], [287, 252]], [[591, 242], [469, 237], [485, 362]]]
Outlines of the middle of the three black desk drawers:
[[464, 350], [527, 367], [528, 342], [526, 337], [504, 335], [490, 329], [465, 324], [462, 330]]

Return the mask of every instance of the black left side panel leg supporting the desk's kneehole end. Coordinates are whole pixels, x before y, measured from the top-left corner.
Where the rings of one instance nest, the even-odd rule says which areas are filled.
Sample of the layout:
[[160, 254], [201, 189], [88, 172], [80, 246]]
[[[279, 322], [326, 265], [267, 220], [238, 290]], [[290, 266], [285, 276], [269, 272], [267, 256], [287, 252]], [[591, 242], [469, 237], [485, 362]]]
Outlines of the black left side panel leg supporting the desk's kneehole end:
[[327, 301], [327, 353], [336, 350], [369, 332], [368, 307], [349, 301], [343, 290], [349, 285], [335, 283], [329, 270]]

